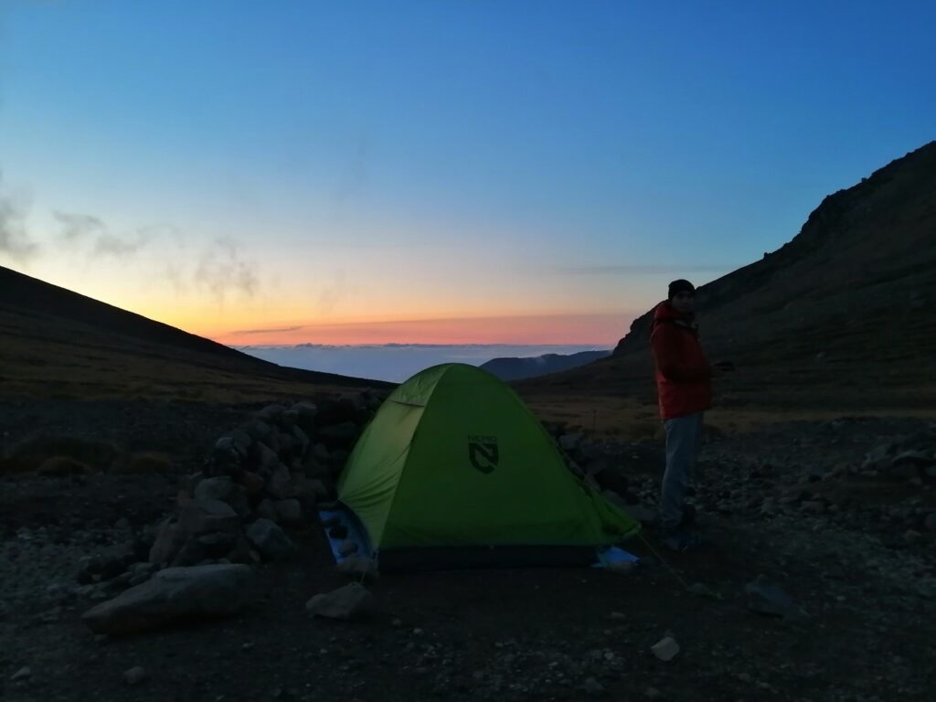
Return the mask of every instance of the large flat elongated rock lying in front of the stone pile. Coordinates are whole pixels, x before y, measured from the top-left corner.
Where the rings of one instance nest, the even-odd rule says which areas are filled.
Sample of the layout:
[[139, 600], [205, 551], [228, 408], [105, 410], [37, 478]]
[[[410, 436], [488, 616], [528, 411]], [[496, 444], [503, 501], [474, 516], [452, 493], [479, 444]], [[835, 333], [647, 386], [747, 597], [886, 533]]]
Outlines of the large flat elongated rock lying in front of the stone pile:
[[96, 634], [132, 634], [172, 622], [235, 614], [250, 602], [247, 565], [167, 568], [141, 585], [92, 607], [81, 619]]

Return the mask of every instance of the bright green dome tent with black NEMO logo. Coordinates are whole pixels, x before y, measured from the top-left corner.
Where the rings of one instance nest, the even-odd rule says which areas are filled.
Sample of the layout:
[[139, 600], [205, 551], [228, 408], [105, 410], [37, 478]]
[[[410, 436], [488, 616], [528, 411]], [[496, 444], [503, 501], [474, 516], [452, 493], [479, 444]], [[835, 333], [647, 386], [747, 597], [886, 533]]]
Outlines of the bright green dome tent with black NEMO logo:
[[396, 388], [338, 482], [381, 569], [593, 563], [639, 525], [582, 484], [517, 394], [450, 363]]

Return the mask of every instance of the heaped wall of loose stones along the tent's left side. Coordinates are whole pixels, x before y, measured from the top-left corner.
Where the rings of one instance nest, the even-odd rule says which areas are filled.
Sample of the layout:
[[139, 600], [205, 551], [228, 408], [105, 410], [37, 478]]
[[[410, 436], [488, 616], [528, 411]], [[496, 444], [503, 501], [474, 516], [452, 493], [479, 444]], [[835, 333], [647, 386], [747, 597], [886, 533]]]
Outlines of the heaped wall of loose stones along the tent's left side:
[[335, 480], [380, 402], [361, 392], [259, 410], [215, 442], [149, 539], [99, 551], [80, 584], [102, 599], [166, 568], [290, 558], [296, 546], [287, 530], [312, 527], [316, 505], [334, 499]]

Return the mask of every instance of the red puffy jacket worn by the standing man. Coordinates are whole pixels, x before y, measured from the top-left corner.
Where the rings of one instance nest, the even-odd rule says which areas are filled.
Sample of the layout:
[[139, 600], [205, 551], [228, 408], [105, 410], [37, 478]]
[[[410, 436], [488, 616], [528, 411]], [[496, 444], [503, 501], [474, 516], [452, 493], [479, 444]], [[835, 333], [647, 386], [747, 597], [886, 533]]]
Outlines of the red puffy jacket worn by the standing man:
[[709, 409], [711, 367], [692, 318], [661, 302], [653, 313], [650, 340], [660, 417], [672, 419]]

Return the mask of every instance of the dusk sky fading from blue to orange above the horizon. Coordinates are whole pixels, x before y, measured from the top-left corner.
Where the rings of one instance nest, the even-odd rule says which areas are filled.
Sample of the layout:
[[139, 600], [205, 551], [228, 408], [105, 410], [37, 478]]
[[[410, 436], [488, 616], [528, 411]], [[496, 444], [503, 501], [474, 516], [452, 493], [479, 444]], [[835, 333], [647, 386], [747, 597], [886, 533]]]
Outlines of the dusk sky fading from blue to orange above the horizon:
[[614, 344], [936, 138], [932, 2], [0, 0], [0, 265], [227, 344]]

